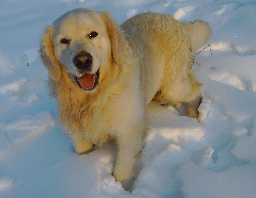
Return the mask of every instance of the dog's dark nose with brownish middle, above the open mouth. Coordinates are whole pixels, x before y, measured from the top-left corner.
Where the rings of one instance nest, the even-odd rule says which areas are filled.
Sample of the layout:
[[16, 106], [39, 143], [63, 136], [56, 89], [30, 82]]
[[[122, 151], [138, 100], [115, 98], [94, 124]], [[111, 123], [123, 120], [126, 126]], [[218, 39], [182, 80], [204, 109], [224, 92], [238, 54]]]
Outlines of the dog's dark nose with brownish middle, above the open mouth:
[[80, 52], [74, 57], [73, 63], [78, 69], [90, 72], [90, 67], [92, 65], [92, 56], [87, 52]]

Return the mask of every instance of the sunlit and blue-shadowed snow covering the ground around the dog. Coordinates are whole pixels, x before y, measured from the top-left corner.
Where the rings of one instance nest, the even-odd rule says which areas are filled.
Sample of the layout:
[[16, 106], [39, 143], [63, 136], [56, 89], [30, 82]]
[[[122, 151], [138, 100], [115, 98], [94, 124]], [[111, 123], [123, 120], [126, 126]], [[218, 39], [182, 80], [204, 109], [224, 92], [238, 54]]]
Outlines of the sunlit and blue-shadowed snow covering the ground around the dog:
[[[77, 7], [110, 11], [118, 23], [139, 12], [170, 13], [213, 30], [213, 57], [208, 47], [193, 67], [203, 83], [203, 121], [151, 103], [131, 193], [111, 176], [115, 145], [75, 154], [48, 96], [40, 36]], [[1, 0], [0, 197], [256, 197], [255, 10], [255, 0]]]

